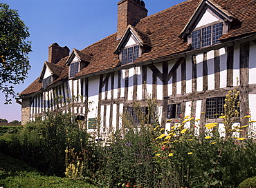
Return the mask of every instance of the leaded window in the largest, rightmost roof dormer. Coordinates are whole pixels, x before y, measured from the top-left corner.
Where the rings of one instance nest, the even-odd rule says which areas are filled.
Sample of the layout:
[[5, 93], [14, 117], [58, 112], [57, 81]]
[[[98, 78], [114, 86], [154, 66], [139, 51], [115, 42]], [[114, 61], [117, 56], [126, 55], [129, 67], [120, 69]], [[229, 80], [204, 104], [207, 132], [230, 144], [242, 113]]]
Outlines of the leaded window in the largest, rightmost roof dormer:
[[192, 48], [201, 48], [215, 43], [219, 43], [219, 38], [223, 32], [223, 23], [209, 25], [192, 32]]

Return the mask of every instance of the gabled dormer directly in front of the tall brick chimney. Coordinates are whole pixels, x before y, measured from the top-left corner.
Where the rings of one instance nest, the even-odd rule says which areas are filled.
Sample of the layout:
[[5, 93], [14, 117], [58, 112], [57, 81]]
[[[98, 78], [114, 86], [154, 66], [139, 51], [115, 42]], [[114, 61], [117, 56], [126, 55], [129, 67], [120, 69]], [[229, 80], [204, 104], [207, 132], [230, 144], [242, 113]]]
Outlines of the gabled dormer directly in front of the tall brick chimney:
[[152, 43], [149, 34], [128, 25], [114, 53], [119, 55], [122, 65], [125, 65], [136, 61], [138, 56], [150, 48]]

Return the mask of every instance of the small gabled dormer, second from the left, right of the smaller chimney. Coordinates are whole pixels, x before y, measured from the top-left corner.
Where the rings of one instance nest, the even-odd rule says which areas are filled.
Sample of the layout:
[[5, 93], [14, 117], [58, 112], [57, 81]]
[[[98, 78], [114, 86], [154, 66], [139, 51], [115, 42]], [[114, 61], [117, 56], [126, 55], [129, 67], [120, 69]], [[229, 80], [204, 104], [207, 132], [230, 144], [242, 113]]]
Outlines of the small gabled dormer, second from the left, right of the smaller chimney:
[[84, 54], [79, 50], [73, 49], [66, 61], [68, 65], [68, 78], [72, 79], [77, 72], [80, 72], [83, 67], [86, 67], [91, 62], [92, 56]]

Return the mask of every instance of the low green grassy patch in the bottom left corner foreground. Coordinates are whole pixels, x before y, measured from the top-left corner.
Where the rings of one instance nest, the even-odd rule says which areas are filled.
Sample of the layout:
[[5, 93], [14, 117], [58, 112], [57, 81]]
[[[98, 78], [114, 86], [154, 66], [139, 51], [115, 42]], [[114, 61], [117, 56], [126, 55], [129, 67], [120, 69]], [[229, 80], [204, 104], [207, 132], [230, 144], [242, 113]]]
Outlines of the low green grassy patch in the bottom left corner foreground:
[[46, 176], [21, 160], [0, 153], [0, 187], [77, 187], [95, 188], [84, 180]]

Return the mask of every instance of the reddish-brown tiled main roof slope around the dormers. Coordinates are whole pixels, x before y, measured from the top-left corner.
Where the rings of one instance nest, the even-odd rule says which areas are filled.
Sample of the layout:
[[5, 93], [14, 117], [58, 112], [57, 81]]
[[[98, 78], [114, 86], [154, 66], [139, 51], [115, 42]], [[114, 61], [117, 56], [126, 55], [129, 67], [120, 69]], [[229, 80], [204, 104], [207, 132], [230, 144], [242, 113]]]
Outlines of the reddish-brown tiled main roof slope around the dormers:
[[[239, 27], [231, 28], [227, 34], [223, 34], [220, 40], [228, 41], [234, 37], [239, 38], [240, 36], [256, 33], [256, 0], [211, 1], [216, 3], [218, 8], [222, 8], [232, 14], [241, 23]], [[136, 27], [134, 27], [134, 30], [136, 30], [140, 36], [146, 34], [144, 36], [147, 37], [142, 37], [143, 41], [149, 43], [148, 41], [150, 39], [152, 49], [138, 57], [136, 62], [158, 59], [159, 57], [188, 51], [190, 45], [188, 45], [187, 41], [179, 38], [179, 34], [183, 28], [185, 28], [185, 25], [194, 14], [200, 2], [201, 0], [188, 0], [141, 19]], [[82, 54], [86, 57], [90, 56], [91, 61], [87, 67], [84, 67], [75, 76], [83, 76], [85, 74], [100, 72], [120, 66], [118, 55], [113, 53], [118, 43], [119, 41], [116, 40], [116, 34], [111, 34], [107, 36], [107, 38], [89, 45], [84, 48], [84, 50], [80, 50], [80, 52], [77, 50], [80, 56], [82, 56]], [[57, 65], [64, 66], [62, 61], [63, 59], [57, 63]], [[64, 68], [60, 78], [56, 81], [63, 79], [65, 76], [68, 76], [67, 67]], [[37, 81], [33, 82], [21, 94], [39, 91], [42, 87], [40, 84], [41, 83], [37, 83]]]

